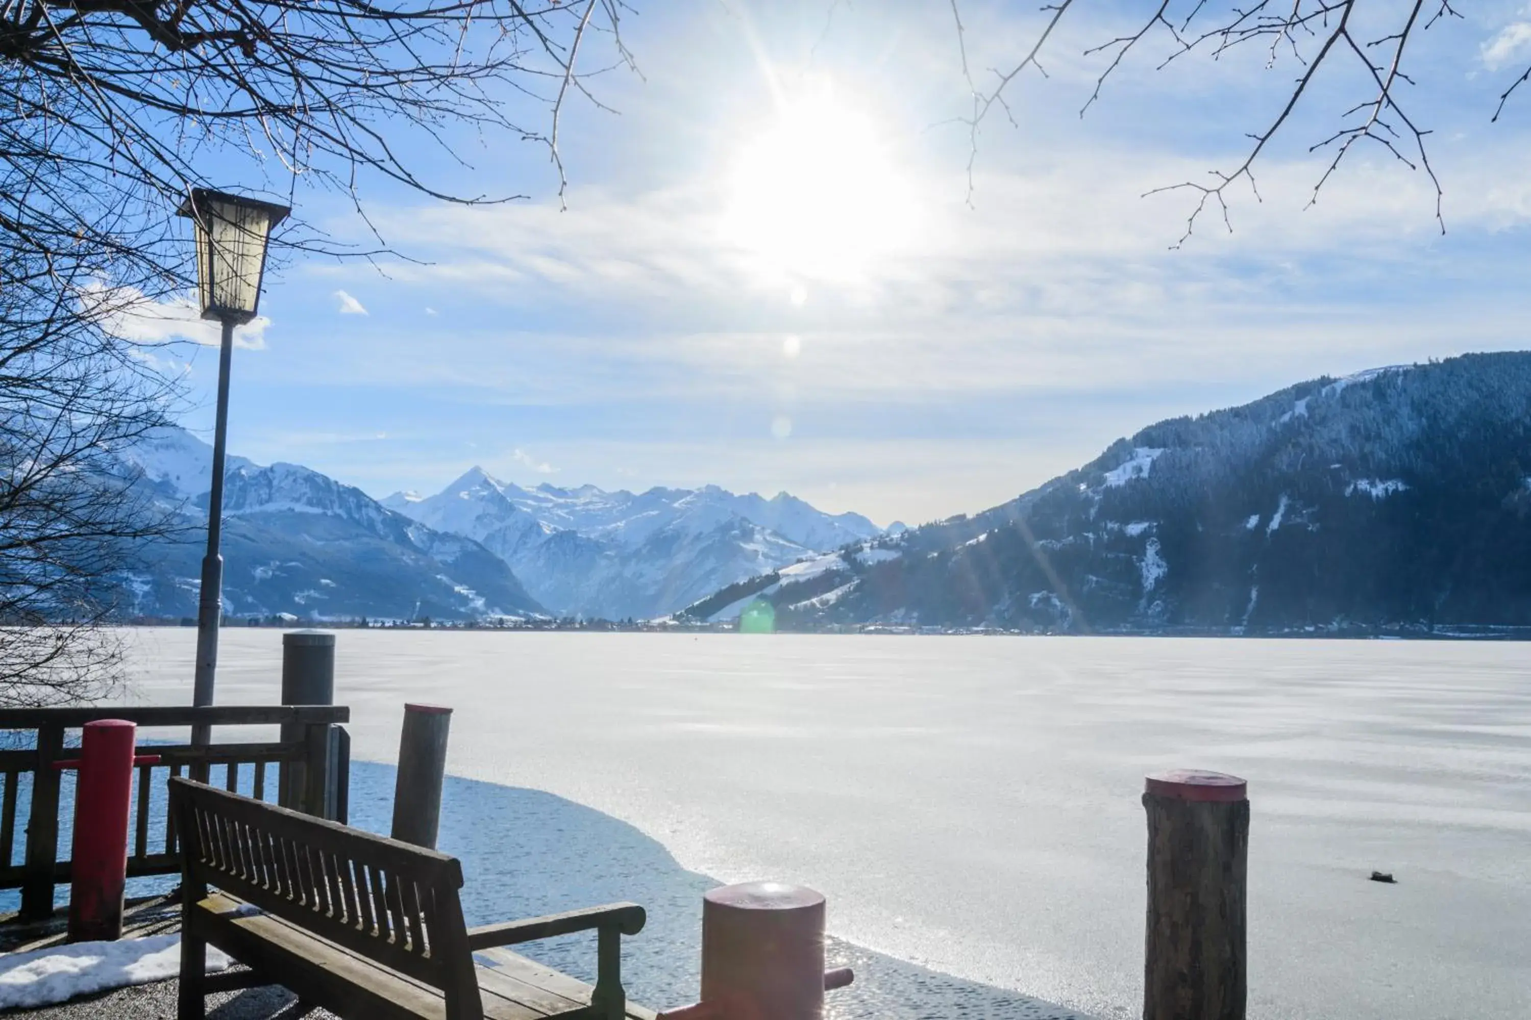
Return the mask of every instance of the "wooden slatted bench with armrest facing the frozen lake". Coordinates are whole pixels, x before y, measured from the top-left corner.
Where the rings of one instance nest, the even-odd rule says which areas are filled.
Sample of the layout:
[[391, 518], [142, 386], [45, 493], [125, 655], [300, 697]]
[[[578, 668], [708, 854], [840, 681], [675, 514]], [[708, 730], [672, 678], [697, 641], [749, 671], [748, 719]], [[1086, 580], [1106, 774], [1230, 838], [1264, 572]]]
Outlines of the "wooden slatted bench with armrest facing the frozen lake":
[[[645, 922], [637, 904], [468, 928], [462, 867], [446, 853], [184, 778], [170, 780], [170, 812], [184, 895], [179, 1020], [201, 1020], [208, 992], [253, 985], [285, 985], [348, 1020], [654, 1017], [622, 988], [622, 936]], [[594, 988], [493, 948], [591, 930]], [[208, 976], [208, 945], [250, 971]]]

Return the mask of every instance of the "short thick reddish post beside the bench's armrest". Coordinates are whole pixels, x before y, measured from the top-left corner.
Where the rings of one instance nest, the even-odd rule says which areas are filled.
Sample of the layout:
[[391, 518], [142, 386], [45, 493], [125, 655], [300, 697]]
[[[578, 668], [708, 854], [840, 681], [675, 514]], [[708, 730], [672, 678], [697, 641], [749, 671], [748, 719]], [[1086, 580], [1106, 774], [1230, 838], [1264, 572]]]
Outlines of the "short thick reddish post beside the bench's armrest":
[[824, 896], [744, 882], [701, 899], [701, 1002], [660, 1020], [821, 1020], [824, 992], [854, 980], [824, 970]]

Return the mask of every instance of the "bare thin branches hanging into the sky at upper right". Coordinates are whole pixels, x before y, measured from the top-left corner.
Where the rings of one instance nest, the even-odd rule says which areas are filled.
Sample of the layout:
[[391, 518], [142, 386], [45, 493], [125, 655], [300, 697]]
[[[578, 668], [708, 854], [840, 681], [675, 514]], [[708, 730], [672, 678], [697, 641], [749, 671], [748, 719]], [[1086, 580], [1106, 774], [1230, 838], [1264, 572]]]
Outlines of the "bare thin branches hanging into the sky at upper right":
[[[1046, 73], [1041, 58], [1055, 44], [1056, 29], [1066, 17], [1076, 14], [1085, 5], [1082, 0], [1056, 0], [1041, 8], [1043, 20], [1030, 49], [1004, 69], [989, 69], [981, 81], [968, 63], [958, 0], [951, 0], [957, 38], [961, 47], [961, 66], [972, 92], [971, 115], [963, 118], [971, 132], [969, 190], [972, 188], [974, 161], [978, 154], [978, 128], [997, 115], [1010, 116], [1006, 101], [1007, 90], [1027, 70]], [[1234, 50], [1260, 50], [1268, 70], [1294, 69], [1291, 87], [1283, 92], [1275, 112], [1249, 133], [1249, 145], [1242, 159], [1220, 170], [1213, 170], [1208, 182], [1183, 180], [1153, 188], [1148, 194], [1164, 191], [1187, 191], [1193, 196], [1187, 216], [1183, 243], [1196, 229], [1197, 220], [1208, 210], [1217, 210], [1223, 225], [1232, 229], [1228, 219], [1229, 188], [1246, 185], [1258, 199], [1255, 165], [1269, 142], [1292, 119], [1294, 112], [1324, 76], [1338, 76], [1344, 66], [1356, 72], [1363, 83], [1361, 92], [1350, 99], [1340, 122], [1326, 135], [1311, 142], [1309, 151], [1327, 153], [1329, 158], [1314, 182], [1309, 203], [1318, 200], [1324, 184], [1358, 145], [1370, 144], [1410, 170], [1422, 171], [1435, 190], [1436, 222], [1445, 229], [1441, 213], [1441, 180], [1430, 164], [1427, 136], [1430, 128], [1421, 125], [1407, 109], [1407, 89], [1416, 83], [1410, 72], [1410, 58], [1422, 32], [1461, 14], [1451, 0], [1407, 0], [1404, 3], [1379, 3], [1376, 0], [1150, 0], [1144, 5], [1139, 20], [1130, 23], [1130, 31], [1104, 38], [1085, 50], [1105, 61], [1095, 81], [1095, 89], [1079, 110], [1081, 116], [1101, 98], [1112, 75], [1133, 54], [1148, 49], [1150, 60], [1157, 67], [1194, 55], [1213, 60]], [[1510, 80], [1499, 93], [1493, 110], [1494, 121], [1516, 90], [1531, 80], [1531, 67]], [[1014, 122], [1014, 118], [1010, 118]]]

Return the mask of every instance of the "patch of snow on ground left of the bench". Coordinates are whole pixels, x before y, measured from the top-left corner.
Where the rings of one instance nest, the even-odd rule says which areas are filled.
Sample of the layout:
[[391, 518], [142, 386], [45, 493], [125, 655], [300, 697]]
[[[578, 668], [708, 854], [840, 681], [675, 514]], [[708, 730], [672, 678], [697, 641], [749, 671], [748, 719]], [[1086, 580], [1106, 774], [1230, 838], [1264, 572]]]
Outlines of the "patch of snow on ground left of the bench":
[[[210, 974], [231, 960], [207, 948]], [[127, 985], [147, 985], [181, 973], [181, 936], [119, 942], [75, 942], [31, 953], [0, 954], [0, 1009], [51, 1006]]]

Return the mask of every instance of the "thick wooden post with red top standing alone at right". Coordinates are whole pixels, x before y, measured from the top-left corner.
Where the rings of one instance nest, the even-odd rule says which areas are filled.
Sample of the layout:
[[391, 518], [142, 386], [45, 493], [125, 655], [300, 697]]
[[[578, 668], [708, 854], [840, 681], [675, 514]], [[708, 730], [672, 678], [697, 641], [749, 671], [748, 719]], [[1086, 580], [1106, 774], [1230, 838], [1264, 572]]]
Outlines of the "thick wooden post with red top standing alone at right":
[[1222, 772], [1159, 772], [1144, 809], [1144, 1020], [1243, 1020], [1248, 788]]

